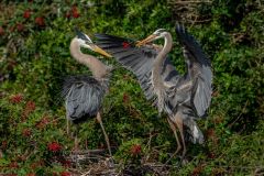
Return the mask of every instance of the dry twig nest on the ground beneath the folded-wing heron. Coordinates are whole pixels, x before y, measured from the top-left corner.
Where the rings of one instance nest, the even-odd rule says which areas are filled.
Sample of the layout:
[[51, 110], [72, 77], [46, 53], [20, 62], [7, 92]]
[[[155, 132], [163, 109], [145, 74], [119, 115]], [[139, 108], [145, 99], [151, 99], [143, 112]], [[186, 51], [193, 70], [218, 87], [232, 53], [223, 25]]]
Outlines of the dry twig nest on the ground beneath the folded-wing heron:
[[169, 175], [169, 165], [142, 160], [142, 164], [112, 163], [107, 150], [75, 151], [65, 156], [72, 163], [68, 170], [73, 176], [131, 176], [152, 174]]

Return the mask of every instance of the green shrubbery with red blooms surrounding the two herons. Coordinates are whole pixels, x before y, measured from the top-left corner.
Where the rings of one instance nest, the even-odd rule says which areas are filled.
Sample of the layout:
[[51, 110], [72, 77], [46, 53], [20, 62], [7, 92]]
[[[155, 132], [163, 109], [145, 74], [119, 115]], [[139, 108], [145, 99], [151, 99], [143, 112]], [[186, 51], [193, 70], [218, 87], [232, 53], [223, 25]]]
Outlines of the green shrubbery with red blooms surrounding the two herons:
[[[59, 88], [63, 77], [89, 73], [69, 55], [74, 26], [91, 36], [133, 38], [167, 29], [175, 38], [172, 61], [184, 73], [176, 21], [200, 42], [212, 61], [215, 78], [209, 118], [199, 122], [206, 144], [189, 143], [186, 163], [174, 157], [168, 173], [264, 173], [264, 1], [2, 0], [0, 12], [1, 174], [74, 173], [66, 157], [74, 142], [66, 133]], [[166, 119], [158, 118], [134, 76], [121, 67], [111, 79], [103, 123], [120, 170], [134, 164], [138, 175], [155, 175], [142, 172], [142, 166], [164, 164], [176, 148]], [[80, 128], [81, 148], [106, 148], [96, 120]]]

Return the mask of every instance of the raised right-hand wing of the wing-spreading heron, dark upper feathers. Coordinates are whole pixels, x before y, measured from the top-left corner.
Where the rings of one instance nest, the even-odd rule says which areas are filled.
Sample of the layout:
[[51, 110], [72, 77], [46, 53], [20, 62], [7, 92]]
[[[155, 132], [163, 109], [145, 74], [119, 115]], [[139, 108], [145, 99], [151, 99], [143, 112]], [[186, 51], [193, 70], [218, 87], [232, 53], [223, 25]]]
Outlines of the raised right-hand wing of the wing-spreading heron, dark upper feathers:
[[179, 42], [184, 45], [184, 55], [191, 63], [188, 70], [193, 79], [191, 102], [199, 117], [206, 114], [211, 102], [212, 70], [211, 63], [202, 52], [194, 36], [187, 33], [180, 25], [176, 26]]

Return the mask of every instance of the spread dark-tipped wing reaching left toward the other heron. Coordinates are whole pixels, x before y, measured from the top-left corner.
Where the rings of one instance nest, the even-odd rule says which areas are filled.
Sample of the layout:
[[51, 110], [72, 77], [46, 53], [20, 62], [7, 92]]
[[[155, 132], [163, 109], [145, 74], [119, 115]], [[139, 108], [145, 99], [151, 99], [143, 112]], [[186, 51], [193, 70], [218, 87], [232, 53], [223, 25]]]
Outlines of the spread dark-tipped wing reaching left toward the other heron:
[[[152, 68], [160, 48], [135, 46], [135, 41], [108, 34], [96, 34], [97, 45], [110, 53], [123, 67], [131, 70], [138, 78], [147, 100], [154, 99], [154, 88], [151, 84]], [[165, 81], [170, 81], [178, 75], [172, 62], [166, 58], [162, 76]]]

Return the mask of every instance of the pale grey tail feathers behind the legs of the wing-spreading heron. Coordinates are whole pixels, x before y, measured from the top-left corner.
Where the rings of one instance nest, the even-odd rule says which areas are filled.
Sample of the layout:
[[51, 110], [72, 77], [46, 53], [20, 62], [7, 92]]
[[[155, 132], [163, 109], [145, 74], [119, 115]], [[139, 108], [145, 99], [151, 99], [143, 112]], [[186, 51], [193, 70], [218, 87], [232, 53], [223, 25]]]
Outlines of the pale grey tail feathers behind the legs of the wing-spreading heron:
[[194, 144], [202, 144], [204, 143], [204, 134], [200, 131], [199, 127], [193, 119], [188, 119], [184, 122], [184, 124], [187, 127], [185, 130], [185, 140], [190, 141]]

